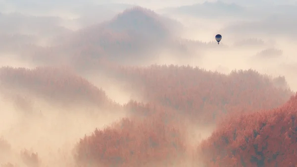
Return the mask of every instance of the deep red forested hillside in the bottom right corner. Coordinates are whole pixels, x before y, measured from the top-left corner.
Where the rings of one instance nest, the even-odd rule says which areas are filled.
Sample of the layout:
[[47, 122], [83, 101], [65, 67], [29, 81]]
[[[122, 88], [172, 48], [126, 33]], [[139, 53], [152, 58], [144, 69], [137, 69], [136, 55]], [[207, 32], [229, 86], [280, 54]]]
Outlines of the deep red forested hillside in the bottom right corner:
[[206, 167], [295, 167], [297, 94], [280, 108], [232, 116], [198, 150]]

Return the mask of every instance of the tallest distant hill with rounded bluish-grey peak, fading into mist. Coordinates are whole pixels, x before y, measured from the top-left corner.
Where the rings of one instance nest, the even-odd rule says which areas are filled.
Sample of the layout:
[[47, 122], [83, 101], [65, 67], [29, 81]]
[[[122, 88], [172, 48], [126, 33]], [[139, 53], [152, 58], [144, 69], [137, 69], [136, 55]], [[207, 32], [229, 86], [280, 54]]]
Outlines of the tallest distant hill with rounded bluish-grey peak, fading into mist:
[[[60, 36], [52, 47], [33, 53], [33, 59], [49, 57], [57, 63], [63, 56], [68, 64], [77, 63], [77, 59], [88, 59], [92, 64], [102, 57], [121, 64], [147, 62], [159, 56], [163, 48], [172, 48], [168, 42], [178, 36], [175, 27], [180, 26], [174, 20], [136, 6], [104, 23]], [[49, 50], [53, 51], [50, 55]]]

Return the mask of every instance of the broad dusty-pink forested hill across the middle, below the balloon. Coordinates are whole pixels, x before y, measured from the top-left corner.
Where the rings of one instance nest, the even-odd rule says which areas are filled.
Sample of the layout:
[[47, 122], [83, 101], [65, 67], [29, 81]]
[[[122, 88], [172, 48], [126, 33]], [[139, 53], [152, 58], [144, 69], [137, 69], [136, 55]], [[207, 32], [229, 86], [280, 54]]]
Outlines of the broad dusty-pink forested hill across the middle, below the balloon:
[[253, 70], [225, 75], [191, 66], [151, 65], [122, 67], [119, 73], [125, 76], [120, 82], [127, 83], [126, 89], [196, 123], [211, 123], [227, 113], [272, 109], [293, 95], [285, 81], [276, 85], [273, 78]]

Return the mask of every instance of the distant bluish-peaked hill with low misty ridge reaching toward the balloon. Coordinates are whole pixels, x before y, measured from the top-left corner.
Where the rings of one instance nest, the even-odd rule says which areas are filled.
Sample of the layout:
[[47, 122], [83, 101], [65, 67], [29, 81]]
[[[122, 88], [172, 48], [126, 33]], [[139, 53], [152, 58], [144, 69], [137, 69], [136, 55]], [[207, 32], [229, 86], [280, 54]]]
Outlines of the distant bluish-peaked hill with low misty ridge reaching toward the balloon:
[[137, 6], [104, 23], [58, 36], [51, 47], [26, 45], [21, 51], [36, 65], [67, 64], [81, 70], [104, 65], [102, 59], [134, 65], [167, 60], [187, 64], [199, 58], [199, 52], [216, 47], [215, 42], [182, 39], [180, 29], [177, 21]]

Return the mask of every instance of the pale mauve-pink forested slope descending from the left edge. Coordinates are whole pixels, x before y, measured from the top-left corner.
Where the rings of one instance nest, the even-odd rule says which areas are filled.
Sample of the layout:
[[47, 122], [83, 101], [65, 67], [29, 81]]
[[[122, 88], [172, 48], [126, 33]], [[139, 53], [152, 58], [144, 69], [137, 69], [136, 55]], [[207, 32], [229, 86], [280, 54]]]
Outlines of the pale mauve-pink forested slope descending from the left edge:
[[52, 105], [116, 107], [105, 92], [67, 68], [37, 67], [35, 69], [1, 67], [1, 92], [19, 94], [52, 102]]

